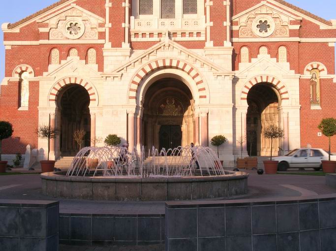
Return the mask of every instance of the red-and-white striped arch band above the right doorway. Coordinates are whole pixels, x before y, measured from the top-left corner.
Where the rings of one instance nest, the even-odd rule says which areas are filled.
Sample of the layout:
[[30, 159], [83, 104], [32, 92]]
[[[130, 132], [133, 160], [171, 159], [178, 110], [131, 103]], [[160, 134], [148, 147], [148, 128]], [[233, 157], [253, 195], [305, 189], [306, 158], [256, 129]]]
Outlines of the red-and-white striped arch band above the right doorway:
[[247, 100], [247, 94], [249, 90], [258, 83], [270, 83], [272, 84], [275, 89], [278, 91], [280, 95], [281, 100], [289, 100], [289, 94], [287, 91], [286, 86], [276, 77], [269, 76], [269, 75], [260, 75], [251, 78], [243, 87], [242, 93], [241, 93], [241, 100]]

